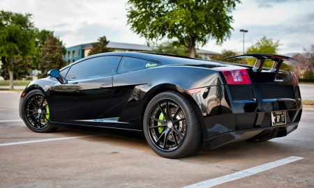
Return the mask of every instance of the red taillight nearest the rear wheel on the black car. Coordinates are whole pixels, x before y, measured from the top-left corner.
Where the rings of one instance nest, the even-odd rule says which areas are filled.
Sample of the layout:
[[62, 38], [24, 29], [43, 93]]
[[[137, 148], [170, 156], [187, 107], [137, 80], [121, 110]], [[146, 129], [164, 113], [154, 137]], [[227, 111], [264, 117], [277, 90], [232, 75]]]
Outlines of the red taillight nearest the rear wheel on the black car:
[[252, 84], [246, 69], [239, 69], [234, 67], [221, 67], [214, 69], [223, 72], [227, 84]]

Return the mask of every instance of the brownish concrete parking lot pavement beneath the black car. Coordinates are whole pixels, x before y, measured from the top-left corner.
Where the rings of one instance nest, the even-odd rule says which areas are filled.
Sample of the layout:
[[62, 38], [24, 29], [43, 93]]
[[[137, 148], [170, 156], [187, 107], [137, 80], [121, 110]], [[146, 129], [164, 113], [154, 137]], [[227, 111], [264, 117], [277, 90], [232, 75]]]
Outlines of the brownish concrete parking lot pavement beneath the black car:
[[146, 141], [31, 132], [18, 115], [20, 93], [0, 92], [0, 187], [185, 187], [292, 156], [303, 159], [216, 187], [314, 187], [314, 111], [283, 138], [165, 159]]

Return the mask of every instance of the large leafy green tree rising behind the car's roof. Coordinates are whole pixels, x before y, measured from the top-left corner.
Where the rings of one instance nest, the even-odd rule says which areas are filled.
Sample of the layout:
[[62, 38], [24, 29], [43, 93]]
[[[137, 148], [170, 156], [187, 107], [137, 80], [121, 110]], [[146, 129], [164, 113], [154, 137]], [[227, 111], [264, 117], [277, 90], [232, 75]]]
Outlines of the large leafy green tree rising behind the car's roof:
[[147, 44], [163, 38], [174, 39], [195, 57], [195, 47], [209, 40], [221, 45], [231, 36], [230, 13], [239, 0], [128, 0], [131, 30], [146, 38]]

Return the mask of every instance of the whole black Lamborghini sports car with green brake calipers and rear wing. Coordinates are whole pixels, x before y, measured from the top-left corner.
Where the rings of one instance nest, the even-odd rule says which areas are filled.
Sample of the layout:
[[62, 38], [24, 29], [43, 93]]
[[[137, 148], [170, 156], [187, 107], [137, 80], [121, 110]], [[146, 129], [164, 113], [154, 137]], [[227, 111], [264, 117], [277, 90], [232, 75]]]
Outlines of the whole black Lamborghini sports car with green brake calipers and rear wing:
[[301, 95], [295, 75], [280, 68], [299, 61], [230, 58], [246, 57], [255, 65], [137, 52], [88, 56], [32, 81], [20, 117], [33, 132], [65, 127], [146, 139], [167, 158], [290, 134], [301, 118]]

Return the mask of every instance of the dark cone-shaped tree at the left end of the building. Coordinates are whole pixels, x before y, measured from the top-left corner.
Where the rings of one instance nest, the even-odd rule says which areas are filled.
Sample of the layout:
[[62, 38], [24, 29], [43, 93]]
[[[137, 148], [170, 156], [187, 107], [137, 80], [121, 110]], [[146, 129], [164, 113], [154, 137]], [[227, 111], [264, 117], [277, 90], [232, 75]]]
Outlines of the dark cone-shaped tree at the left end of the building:
[[47, 77], [47, 72], [52, 69], [61, 69], [66, 65], [63, 60], [62, 47], [59, 45], [58, 38], [52, 33], [47, 34], [45, 45], [41, 48], [40, 63], [38, 69], [41, 70], [40, 77]]

